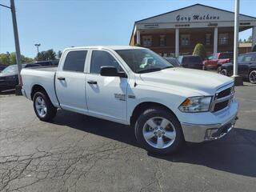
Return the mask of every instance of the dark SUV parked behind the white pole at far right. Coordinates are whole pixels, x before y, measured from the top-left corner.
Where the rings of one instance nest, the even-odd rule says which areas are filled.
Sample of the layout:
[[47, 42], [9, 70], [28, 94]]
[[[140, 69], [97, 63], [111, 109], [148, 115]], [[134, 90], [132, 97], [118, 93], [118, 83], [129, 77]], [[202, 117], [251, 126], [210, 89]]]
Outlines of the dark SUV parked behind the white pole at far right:
[[[220, 66], [219, 73], [231, 76], [233, 74], [233, 62]], [[240, 54], [238, 56], [238, 75], [251, 83], [256, 83], [256, 52]]]

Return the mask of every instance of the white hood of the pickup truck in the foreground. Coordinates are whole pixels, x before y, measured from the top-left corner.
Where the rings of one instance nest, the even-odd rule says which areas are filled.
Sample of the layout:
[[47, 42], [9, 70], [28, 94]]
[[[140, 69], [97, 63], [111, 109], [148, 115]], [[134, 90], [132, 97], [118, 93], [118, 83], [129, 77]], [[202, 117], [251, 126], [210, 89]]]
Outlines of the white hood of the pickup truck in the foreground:
[[234, 82], [232, 78], [222, 74], [182, 67], [141, 74], [140, 77], [150, 85], [162, 86], [166, 89], [179, 86], [180, 89], [193, 90], [202, 95], [214, 95], [220, 87]]

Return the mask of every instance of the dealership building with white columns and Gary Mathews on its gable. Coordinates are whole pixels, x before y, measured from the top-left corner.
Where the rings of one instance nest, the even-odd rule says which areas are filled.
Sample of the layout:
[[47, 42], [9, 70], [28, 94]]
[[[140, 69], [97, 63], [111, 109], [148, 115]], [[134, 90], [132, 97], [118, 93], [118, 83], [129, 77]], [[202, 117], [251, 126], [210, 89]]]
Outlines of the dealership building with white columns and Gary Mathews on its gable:
[[[239, 31], [252, 28], [256, 43], [256, 18], [240, 14]], [[139, 44], [162, 56], [191, 54], [201, 42], [208, 54], [234, 50], [234, 12], [195, 4], [134, 23], [130, 46]]]

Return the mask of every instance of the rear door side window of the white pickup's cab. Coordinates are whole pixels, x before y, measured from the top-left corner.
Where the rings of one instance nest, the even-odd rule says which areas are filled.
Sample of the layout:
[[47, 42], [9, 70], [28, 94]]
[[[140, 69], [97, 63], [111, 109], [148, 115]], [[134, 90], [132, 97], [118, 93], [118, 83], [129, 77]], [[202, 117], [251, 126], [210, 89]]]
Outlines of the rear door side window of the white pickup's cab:
[[83, 72], [87, 50], [72, 50], [66, 55], [63, 70]]

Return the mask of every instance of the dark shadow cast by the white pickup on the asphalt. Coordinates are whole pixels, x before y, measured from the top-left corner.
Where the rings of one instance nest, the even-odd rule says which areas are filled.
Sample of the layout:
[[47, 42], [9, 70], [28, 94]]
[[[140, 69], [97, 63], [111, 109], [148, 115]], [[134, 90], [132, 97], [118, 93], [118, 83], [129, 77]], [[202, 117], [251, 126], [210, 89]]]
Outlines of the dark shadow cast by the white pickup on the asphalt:
[[[58, 115], [54, 118], [53, 123], [138, 146], [134, 130], [130, 126], [123, 126], [65, 110], [58, 110]], [[170, 162], [191, 163], [232, 174], [256, 177], [255, 149], [256, 131], [235, 128], [226, 137], [214, 142], [189, 143], [177, 154], [167, 156], [149, 155]]]

